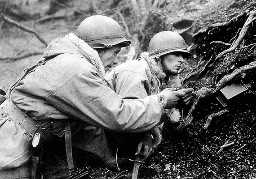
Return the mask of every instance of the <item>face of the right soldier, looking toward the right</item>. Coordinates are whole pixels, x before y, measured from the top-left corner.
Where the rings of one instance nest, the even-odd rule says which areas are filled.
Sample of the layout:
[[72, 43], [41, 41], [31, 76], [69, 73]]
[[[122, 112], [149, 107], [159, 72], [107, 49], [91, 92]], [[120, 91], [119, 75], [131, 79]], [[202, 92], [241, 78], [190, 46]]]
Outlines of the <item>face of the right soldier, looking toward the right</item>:
[[185, 62], [180, 52], [172, 52], [161, 56], [163, 72], [167, 75], [177, 75]]

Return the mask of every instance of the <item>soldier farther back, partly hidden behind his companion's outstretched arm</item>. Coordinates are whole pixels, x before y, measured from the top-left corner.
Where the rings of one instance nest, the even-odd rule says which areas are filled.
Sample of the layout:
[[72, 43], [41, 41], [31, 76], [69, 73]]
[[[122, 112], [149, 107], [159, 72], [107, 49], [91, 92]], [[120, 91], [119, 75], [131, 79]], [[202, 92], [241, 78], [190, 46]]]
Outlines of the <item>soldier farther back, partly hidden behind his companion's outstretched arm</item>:
[[[187, 105], [190, 102], [193, 89], [179, 90], [181, 86], [170, 82], [170, 79], [179, 73], [188, 55], [191, 54], [187, 51], [187, 45], [181, 35], [172, 31], [162, 31], [151, 38], [148, 52], [141, 53], [140, 59], [120, 64], [106, 75], [105, 78], [110, 87], [123, 98], [134, 99], [160, 95], [166, 88], [185, 92], [183, 98], [173, 101], [174, 105], [163, 111], [157, 126], [140, 134], [141, 141], [135, 143], [137, 148], [134, 154], [147, 158], [161, 142], [162, 136], [159, 131], [164, 121], [171, 120], [174, 123], [181, 121], [177, 106]], [[153, 137], [150, 137], [152, 135]], [[129, 136], [131, 134], [124, 137], [127, 140], [123, 148], [131, 145]], [[137, 134], [135, 136], [138, 138]]]

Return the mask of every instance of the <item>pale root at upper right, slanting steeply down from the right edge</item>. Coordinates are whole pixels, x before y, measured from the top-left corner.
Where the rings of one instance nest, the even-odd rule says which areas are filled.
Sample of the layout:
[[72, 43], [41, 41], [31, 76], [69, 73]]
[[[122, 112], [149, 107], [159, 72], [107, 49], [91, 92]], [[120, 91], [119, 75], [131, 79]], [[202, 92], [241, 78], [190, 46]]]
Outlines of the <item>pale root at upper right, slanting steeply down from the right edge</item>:
[[245, 34], [246, 34], [246, 32], [247, 32], [247, 30], [249, 28], [249, 25], [253, 21], [256, 21], [256, 17], [255, 16], [256, 16], [256, 10], [251, 11], [249, 17], [247, 18], [246, 22], [243, 25], [242, 30], [240, 31], [240, 34], [239, 34], [237, 40], [234, 42], [232, 47], [230, 47], [229, 49], [227, 49], [225, 51], [222, 51], [219, 55], [217, 55], [215, 60], [220, 59], [222, 56], [224, 56], [227, 53], [230, 53], [230, 52], [234, 51], [236, 49], [236, 47], [238, 47], [240, 42], [243, 40], [243, 37], [245, 36]]

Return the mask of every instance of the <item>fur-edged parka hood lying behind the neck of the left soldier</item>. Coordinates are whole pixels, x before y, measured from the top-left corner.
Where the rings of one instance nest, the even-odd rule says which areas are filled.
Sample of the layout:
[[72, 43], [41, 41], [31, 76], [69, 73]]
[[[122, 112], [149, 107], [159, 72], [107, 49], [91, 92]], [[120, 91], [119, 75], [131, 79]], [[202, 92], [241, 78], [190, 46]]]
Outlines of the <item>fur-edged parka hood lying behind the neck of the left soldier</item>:
[[98, 52], [75, 34], [70, 33], [53, 40], [46, 48], [43, 58], [48, 59], [64, 53], [83, 55], [104, 76], [105, 70]]

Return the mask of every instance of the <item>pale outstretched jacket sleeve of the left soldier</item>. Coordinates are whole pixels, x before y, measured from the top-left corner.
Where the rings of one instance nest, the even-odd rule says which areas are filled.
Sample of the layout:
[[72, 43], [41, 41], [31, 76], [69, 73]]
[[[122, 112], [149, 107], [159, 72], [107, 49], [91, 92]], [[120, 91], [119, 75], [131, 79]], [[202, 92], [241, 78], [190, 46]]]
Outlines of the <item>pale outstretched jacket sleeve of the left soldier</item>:
[[77, 74], [49, 95], [47, 101], [75, 119], [119, 132], [149, 130], [158, 124], [163, 111], [156, 95], [123, 99], [92, 70]]

